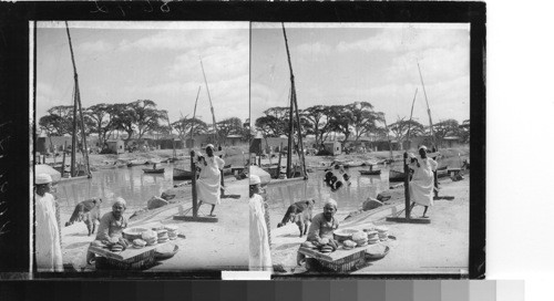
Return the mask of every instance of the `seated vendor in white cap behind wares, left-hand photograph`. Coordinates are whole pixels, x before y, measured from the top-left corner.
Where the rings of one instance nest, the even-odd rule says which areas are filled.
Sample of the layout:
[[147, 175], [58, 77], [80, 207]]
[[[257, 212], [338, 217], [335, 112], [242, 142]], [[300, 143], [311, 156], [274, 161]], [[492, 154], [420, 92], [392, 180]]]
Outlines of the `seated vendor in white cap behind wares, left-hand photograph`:
[[123, 212], [127, 204], [121, 197], [116, 198], [112, 205], [112, 211], [105, 214], [102, 219], [100, 219], [99, 231], [96, 233], [96, 240], [107, 240], [112, 237], [122, 237], [123, 229], [127, 227], [127, 219], [123, 217]]

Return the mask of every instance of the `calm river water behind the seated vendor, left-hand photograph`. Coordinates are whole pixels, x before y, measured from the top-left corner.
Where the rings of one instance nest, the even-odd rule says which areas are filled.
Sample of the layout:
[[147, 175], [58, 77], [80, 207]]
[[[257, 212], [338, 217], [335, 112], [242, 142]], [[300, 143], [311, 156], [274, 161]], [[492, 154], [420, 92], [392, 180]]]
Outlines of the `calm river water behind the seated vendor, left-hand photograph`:
[[90, 180], [57, 185], [55, 195], [64, 210], [72, 210], [78, 203], [93, 197], [102, 198], [102, 208], [110, 208], [115, 197], [123, 197], [129, 208], [142, 207], [151, 197], [173, 187], [173, 164], [160, 167], [165, 168], [164, 174], [144, 174], [142, 169], [147, 166], [93, 172]]

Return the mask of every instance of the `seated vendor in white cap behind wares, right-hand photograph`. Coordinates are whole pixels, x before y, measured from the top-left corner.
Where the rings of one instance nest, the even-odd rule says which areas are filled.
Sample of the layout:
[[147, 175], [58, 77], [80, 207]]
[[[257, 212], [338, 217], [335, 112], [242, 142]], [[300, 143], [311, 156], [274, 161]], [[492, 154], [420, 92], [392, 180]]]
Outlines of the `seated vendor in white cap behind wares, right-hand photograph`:
[[308, 241], [321, 242], [321, 239], [334, 239], [334, 231], [339, 228], [339, 221], [334, 217], [337, 212], [337, 201], [330, 198], [325, 203], [324, 212], [311, 219], [308, 230]]

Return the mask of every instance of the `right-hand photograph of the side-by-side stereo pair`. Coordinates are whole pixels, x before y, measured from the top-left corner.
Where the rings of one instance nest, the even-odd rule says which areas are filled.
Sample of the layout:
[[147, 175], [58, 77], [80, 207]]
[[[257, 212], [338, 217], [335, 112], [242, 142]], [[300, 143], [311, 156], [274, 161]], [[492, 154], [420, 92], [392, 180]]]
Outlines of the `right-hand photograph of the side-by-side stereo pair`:
[[470, 24], [252, 23], [250, 269], [468, 274]]

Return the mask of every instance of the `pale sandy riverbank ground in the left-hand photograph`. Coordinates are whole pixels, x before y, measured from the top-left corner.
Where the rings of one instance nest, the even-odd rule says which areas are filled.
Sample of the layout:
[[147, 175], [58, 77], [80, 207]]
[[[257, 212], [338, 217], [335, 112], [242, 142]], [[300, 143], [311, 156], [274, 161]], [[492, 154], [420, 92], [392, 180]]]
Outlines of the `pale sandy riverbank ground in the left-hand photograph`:
[[[192, 207], [191, 186], [166, 190], [175, 195], [174, 204], [155, 209], [147, 216], [133, 218], [130, 227], [155, 227], [173, 225], [186, 238], [171, 240], [164, 247], [173, 249], [176, 245], [179, 251], [171, 259], [160, 261], [160, 264], [148, 271], [197, 271], [197, 270], [245, 270], [248, 267], [248, 186], [247, 179], [226, 183], [226, 195], [239, 195], [235, 198], [222, 198], [216, 206], [217, 222], [187, 222], [174, 220], [173, 216]], [[187, 197], [188, 200], [185, 199]], [[146, 201], [146, 200], [145, 200]], [[144, 205], [145, 206], [145, 205]], [[211, 206], [202, 206], [198, 216], [207, 216]], [[130, 218], [135, 210], [127, 209], [124, 214]], [[103, 211], [104, 214], [104, 211]], [[62, 212], [61, 220], [69, 220], [70, 214]], [[84, 222], [76, 222], [62, 228], [63, 262], [80, 269], [84, 266], [84, 252], [95, 235], [88, 236]], [[86, 269], [90, 271], [90, 267]]]

